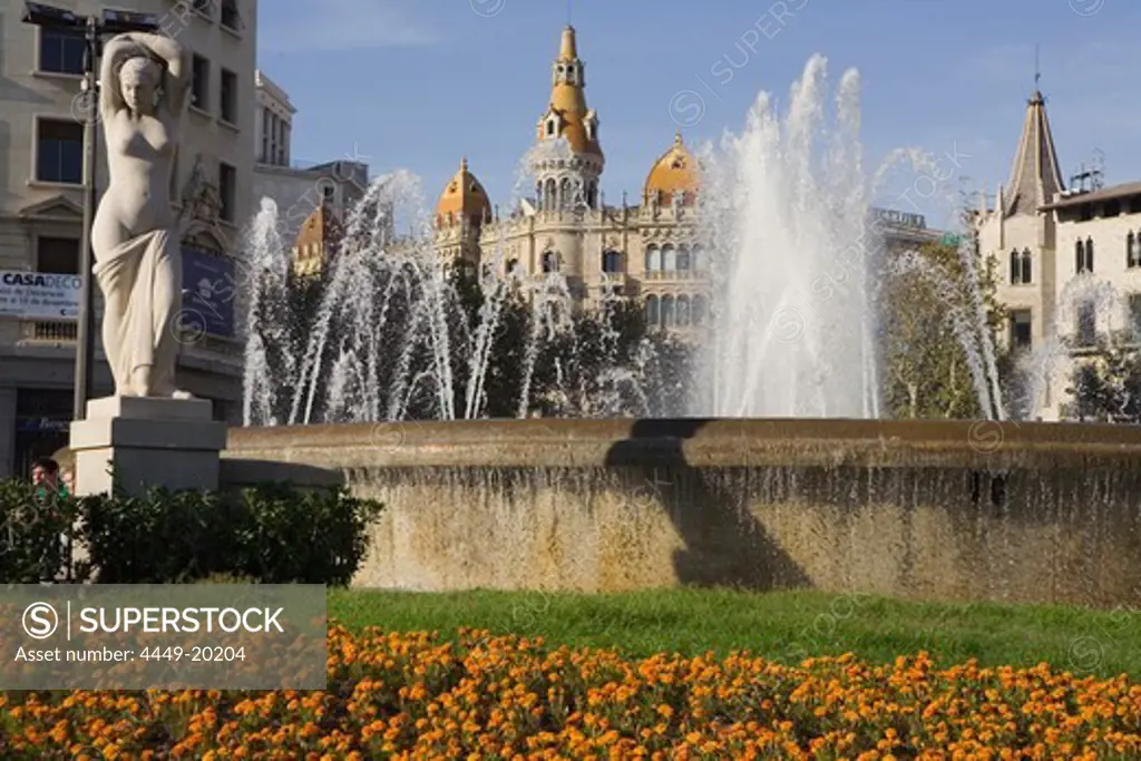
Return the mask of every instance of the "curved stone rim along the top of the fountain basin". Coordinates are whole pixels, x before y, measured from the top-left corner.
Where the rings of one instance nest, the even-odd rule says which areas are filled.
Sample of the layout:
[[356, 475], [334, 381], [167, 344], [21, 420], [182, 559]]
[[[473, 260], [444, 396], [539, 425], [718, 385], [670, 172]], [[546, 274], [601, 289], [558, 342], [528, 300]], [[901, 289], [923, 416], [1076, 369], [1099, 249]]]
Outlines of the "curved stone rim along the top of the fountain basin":
[[1141, 427], [877, 420], [489, 420], [232, 428], [224, 458], [319, 468], [1133, 469]]

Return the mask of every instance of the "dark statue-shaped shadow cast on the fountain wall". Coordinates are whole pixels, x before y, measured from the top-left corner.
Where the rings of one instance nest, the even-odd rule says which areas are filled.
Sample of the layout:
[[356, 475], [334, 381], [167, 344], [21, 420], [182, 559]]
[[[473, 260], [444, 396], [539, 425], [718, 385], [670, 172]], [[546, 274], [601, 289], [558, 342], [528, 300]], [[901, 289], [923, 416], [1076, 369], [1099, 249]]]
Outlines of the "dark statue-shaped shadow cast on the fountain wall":
[[656, 501], [670, 517], [686, 545], [673, 554], [682, 584], [761, 591], [812, 586], [748, 510], [747, 492], [729, 487], [726, 469], [687, 461], [685, 440], [709, 422], [634, 421], [630, 438], [607, 451], [606, 467], [633, 481], [636, 493]]

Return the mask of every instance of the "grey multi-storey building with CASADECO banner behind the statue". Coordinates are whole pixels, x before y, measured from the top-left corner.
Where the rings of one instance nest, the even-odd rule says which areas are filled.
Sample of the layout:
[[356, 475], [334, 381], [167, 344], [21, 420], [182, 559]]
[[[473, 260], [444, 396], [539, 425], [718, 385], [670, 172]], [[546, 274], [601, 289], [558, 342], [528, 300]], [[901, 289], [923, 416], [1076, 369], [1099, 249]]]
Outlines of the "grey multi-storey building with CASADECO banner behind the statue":
[[[83, 40], [0, 11], [0, 478], [66, 445], [83, 217]], [[50, 3], [102, 14], [94, 0]], [[171, 177], [184, 254], [180, 386], [241, 419], [234, 253], [254, 210], [257, 0], [119, 0], [193, 52], [192, 105]], [[107, 183], [97, 128], [96, 192]], [[102, 310], [96, 289], [96, 319]], [[113, 391], [96, 323], [92, 397]]]

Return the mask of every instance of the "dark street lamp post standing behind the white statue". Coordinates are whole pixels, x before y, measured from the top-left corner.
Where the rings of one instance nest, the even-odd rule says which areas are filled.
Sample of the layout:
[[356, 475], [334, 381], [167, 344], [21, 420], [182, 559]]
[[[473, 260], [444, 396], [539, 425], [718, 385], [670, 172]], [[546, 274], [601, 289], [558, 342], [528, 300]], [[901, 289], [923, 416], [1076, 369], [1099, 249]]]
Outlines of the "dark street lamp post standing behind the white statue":
[[[95, 369], [95, 286], [91, 282], [91, 222], [95, 217], [95, 173], [98, 165], [96, 152], [99, 120], [99, 80], [97, 75], [102, 40], [105, 34], [124, 32], [155, 32], [159, 22], [148, 14], [104, 10], [102, 16], [81, 16], [64, 8], [42, 2], [24, 3], [24, 23], [41, 29], [68, 30], [83, 34], [83, 80], [81, 91], [86, 97], [83, 112], [83, 230], [80, 240], [79, 273], [80, 299], [75, 337], [75, 392], [72, 398], [72, 418], [87, 416]], [[74, 110], [73, 110], [74, 113]]]

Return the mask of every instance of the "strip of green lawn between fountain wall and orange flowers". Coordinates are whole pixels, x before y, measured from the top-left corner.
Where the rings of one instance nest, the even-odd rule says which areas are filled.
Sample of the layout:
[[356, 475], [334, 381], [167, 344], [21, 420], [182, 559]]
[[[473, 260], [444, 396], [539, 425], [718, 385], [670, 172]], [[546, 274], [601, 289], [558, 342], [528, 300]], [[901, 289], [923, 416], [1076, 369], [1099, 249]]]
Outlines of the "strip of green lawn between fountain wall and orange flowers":
[[851, 651], [868, 662], [928, 650], [941, 665], [1033, 666], [1141, 680], [1141, 618], [1079, 608], [901, 602], [822, 592], [711, 590], [621, 594], [333, 590], [329, 615], [349, 629], [460, 626], [542, 635], [551, 645], [615, 647], [633, 656], [750, 650], [786, 663]]

